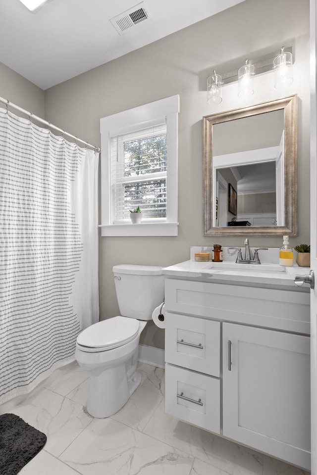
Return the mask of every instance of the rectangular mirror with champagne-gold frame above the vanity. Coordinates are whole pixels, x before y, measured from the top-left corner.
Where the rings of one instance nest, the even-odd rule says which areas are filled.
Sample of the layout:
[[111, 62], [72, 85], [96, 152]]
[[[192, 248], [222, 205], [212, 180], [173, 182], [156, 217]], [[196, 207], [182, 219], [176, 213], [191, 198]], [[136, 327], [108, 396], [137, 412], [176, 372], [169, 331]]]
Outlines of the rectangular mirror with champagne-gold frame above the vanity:
[[297, 236], [297, 95], [204, 122], [204, 236]]

